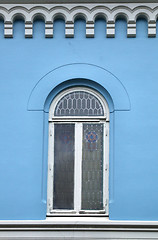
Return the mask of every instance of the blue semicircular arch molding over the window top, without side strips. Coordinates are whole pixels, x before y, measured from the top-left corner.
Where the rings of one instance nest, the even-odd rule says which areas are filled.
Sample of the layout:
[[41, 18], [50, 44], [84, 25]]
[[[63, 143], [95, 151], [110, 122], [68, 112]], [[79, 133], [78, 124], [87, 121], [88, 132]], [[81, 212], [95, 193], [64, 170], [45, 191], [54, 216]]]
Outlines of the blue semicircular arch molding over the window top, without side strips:
[[104, 68], [83, 63], [61, 66], [41, 78], [30, 94], [28, 110], [49, 112], [53, 98], [73, 86], [96, 89], [107, 100], [110, 112], [130, 110], [129, 96], [121, 81]]

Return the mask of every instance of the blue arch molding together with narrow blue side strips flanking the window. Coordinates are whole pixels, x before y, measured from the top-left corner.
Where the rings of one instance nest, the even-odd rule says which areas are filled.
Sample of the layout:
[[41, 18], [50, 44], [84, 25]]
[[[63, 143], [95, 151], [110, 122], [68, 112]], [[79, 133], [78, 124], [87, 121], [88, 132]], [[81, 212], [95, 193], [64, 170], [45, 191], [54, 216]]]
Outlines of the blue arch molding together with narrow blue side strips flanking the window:
[[[48, 121], [49, 110], [53, 100], [60, 93], [73, 87], [86, 87], [95, 91], [107, 102], [110, 119], [110, 191], [109, 205], [114, 201], [113, 194], [113, 134], [114, 134], [114, 111], [130, 110], [130, 100], [127, 91], [121, 81], [104, 68], [92, 64], [68, 64], [47, 73], [33, 88], [29, 100], [28, 111], [44, 111], [43, 114], [43, 168], [42, 168], [42, 203], [45, 205], [47, 199], [47, 166], [48, 166]], [[54, 121], [54, 119], [53, 119]], [[51, 122], [51, 120], [50, 120]], [[108, 124], [108, 119], [106, 119]], [[109, 140], [108, 140], [109, 143]], [[49, 204], [49, 202], [47, 202]], [[110, 206], [109, 206], [110, 208]], [[108, 214], [108, 212], [107, 212]]]

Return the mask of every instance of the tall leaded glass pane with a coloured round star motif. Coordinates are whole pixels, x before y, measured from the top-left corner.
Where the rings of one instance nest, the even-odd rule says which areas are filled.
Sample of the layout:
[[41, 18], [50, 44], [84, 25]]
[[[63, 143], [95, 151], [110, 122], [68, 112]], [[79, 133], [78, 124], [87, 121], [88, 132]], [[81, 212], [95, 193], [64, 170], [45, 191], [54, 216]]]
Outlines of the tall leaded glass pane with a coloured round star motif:
[[103, 124], [83, 124], [82, 209], [103, 209]]

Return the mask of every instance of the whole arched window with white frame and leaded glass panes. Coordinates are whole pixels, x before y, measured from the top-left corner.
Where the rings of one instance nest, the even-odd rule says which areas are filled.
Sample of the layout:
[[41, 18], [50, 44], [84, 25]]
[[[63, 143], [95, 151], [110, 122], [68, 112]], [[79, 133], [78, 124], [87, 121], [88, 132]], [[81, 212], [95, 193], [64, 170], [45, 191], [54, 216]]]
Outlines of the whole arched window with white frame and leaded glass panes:
[[49, 111], [48, 214], [108, 215], [109, 109], [98, 92], [69, 88]]

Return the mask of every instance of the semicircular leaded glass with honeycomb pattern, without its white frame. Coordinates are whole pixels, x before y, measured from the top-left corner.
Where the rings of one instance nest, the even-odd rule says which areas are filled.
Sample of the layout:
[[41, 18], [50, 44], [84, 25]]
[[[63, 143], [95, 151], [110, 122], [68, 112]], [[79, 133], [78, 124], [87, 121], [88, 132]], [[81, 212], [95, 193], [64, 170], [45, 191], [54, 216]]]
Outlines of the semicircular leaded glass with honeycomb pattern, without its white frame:
[[103, 116], [99, 99], [85, 91], [74, 91], [62, 97], [56, 105], [54, 116]]

